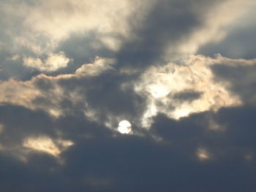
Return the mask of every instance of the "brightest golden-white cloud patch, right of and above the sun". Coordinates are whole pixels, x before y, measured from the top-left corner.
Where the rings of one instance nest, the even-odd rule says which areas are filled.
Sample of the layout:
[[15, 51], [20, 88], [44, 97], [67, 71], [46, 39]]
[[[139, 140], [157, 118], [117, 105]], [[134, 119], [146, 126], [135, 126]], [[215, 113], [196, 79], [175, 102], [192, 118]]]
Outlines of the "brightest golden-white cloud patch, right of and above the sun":
[[[142, 126], [149, 127], [151, 117], [159, 112], [178, 120], [195, 112], [241, 104], [239, 97], [228, 90], [228, 82], [214, 80], [211, 65], [224, 63], [223, 60], [220, 55], [217, 58], [191, 55], [182, 64], [168, 63], [147, 69], [135, 83], [135, 91], [147, 98]], [[195, 97], [189, 98], [189, 91]]]

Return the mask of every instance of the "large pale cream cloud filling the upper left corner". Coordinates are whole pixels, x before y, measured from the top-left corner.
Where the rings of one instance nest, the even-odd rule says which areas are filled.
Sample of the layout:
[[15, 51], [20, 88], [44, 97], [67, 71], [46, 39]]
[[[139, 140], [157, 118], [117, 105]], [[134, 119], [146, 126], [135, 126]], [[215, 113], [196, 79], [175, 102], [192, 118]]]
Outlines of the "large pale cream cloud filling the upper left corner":
[[[130, 35], [129, 16], [141, 7], [136, 1], [29, 1], [1, 2], [4, 34], [12, 36], [15, 47], [34, 54], [50, 54], [71, 34], [97, 34], [102, 45], [116, 50], [120, 38]], [[17, 11], [18, 10], [18, 11]], [[8, 15], [8, 17], [7, 17]], [[116, 17], [118, 15], [118, 17]], [[6, 20], [10, 23], [7, 24]], [[116, 27], [118, 26], [118, 27]], [[22, 30], [22, 33], [17, 33]], [[12, 47], [14, 48], [14, 47]]]

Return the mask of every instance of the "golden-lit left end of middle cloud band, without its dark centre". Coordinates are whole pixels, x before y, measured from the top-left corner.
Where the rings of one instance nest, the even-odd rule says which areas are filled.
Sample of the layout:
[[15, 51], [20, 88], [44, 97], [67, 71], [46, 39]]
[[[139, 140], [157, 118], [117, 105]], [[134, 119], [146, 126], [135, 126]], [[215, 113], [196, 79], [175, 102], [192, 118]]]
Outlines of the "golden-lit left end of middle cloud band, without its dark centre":
[[[75, 74], [61, 74], [56, 77], [39, 74], [26, 82], [18, 80], [1, 82], [0, 86], [3, 91], [1, 102], [18, 104], [31, 110], [42, 109], [58, 117], [64, 113], [61, 109], [61, 101], [64, 99], [74, 103], [82, 101], [83, 104], [86, 104], [86, 101], [83, 101], [83, 96], [79, 96], [79, 91], [83, 88], [78, 87], [78, 90], [65, 94], [68, 93], [68, 90], [65, 86], [61, 86], [61, 81], [72, 82], [74, 79], [97, 76], [101, 72], [111, 69], [113, 62], [111, 59], [96, 58], [94, 64], [84, 64]], [[53, 64], [56, 63], [53, 62]]]

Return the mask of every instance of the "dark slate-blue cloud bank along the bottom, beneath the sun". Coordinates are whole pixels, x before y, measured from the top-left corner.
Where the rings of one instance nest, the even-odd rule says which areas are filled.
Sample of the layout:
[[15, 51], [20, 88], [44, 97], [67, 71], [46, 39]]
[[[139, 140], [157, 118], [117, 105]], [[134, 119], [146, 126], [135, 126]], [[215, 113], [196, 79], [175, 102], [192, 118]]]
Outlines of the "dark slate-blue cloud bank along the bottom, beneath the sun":
[[[246, 159], [245, 155], [256, 147], [254, 113], [252, 107], [236, 107], [216, 114], [192, 115], [180, 121], [159, 115], [152, 131], [163, 137], [164, 142], [132, 135], [111, 137], [95, 123], [63, 118], [59, 125], [72, 126], [72, 131], [70, 128], [62, 131], [75, 136], [76, 143], [62, 153], [65, 163], [56, 164], [42, 153], [32, 154], [27, 164], [1, 155], [0, 183], [6, 191], [18, 188], [74, 192], [140, 189], [252, 192], [256, 188], [255, 159]], [[222, 125], [228, 123], [226, 131], [209, 130], [203, 121], [209, 115]], [[93, 129], [91, 134], [97, 139], [89, 135], [78, 137], [86, 136]], [[197, 147], [206, 147], [211, 158], [199, 161]]]

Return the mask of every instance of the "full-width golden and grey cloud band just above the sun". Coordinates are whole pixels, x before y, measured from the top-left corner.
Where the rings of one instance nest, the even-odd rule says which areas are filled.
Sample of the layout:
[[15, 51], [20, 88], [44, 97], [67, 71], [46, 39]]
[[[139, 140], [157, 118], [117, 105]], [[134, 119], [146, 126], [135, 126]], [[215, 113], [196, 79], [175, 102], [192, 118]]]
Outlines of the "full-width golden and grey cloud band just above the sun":
[[[92, 64], [84, 64], [74, 74], [56, 77], [40, 74], [26, 82], [1, 82], [4, 90], [1, 102], [45, 110], [56, 118], [79, 110], [110, 128], [116, 128], [120, 120], [127, 118], [134, 119], [132, 123], [138, 126], [150, 127], [151, 119], [158, 113], [178, 120], [195, 112], [243, 104], [239, 93], [230, 89], [232, 82], [216, 79], [211, 69], [218, 66], [246, 69], [254, 67], [255, 60], [191, 55], [178, 64], [151, 66], [139, 73], [118, 71], [115, 64], [114, 59], [95, 58]], [[136, 78], [132, 80], [133, 77]]]

